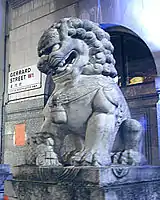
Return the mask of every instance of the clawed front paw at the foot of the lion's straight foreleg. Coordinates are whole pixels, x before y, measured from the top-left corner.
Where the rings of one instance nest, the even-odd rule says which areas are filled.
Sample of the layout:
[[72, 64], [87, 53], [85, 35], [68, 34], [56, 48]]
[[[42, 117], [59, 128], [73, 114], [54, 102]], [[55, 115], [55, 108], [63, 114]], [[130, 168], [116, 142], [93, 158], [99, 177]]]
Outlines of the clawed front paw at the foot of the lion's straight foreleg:
[[96, 150], [83, 149], [72, 156], [71, 164], [74, 166], [106, 166], [111, 164], [111, 157]]

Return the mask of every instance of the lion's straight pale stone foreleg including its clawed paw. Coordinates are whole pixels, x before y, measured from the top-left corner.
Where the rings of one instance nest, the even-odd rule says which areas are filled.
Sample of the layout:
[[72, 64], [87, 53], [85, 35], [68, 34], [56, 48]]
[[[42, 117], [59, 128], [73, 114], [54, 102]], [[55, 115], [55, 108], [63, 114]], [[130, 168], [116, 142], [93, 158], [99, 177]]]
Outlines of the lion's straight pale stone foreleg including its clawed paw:
[[94, 112], [87, 123], [84, 148], [72, 157], [73, 165], [106, 166], [115, 140], [113, 113]]

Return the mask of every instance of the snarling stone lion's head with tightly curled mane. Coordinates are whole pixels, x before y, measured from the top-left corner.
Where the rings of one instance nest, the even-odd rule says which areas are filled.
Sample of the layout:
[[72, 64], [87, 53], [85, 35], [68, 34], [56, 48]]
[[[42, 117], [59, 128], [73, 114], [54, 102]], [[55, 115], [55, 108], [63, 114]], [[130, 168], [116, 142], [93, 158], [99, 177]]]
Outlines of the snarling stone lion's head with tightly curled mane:
[[38, 43], [41, 72], [53, 76], [103, 74], [114, 78], [117, 71], [110, 36], [97, 24], [65, 18], [46, 30]]

